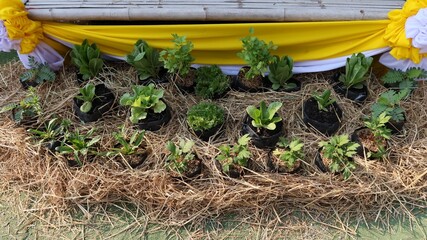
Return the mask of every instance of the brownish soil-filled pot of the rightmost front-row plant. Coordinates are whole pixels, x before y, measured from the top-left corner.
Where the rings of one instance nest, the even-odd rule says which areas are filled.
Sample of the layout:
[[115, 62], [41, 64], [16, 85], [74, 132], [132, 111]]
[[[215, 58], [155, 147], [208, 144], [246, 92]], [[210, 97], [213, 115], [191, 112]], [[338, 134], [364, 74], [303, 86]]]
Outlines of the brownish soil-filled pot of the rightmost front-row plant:
[[[369, 128], [362, 127], [356, 129], [353, 134], [351, 134], [351, 141], [357, 142], [360, 145], [356, 150], [357, 155], [365, 157], [365, 153], [371, 152], [372, 154], [368, 159], [375, 159], [375, 154], [378, 153], [379, 147]], [[384, 139], [381, 144], [384, 148], [387, 148], [387, 140]]]

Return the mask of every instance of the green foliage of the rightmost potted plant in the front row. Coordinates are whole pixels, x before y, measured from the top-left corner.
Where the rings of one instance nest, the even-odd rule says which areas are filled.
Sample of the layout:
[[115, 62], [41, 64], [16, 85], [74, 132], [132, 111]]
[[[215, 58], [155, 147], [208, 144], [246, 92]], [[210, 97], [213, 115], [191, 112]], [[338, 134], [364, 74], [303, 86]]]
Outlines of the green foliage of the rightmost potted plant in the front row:
[[386, 124], [390, 121], [391, 116], [387, 112], [382, 112], [378, 116], [371, 115], [370, 118], [364, 121], [365, 126], [371, 131], [373, 136], [373, 144], [378, 148], [378, 151], [368, 152], [368, 157], [380, 158], [387, 153], [385, 140], [390, 139], [391, 130]]

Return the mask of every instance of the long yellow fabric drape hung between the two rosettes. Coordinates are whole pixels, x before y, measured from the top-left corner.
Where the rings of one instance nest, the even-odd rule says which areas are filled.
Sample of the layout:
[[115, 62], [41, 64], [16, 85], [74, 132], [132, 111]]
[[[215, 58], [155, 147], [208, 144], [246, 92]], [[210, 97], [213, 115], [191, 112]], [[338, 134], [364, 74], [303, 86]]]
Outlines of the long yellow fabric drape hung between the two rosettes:
[[[172, 33], [187, 36], [194, 44], [195, 63], [235, 65], [244, 62], [236, 56], [241, 38], [255, 29], [255, 36], [278, 45], [277, 55], [289, 55], [295, 61], [322, 60], [387, 47], [383, 35], [389, 20], [94, 26], [43, 22], [45, 34], [71, 44], [84, 39], [95, 42], [103, 53], [124, 57], [138, 39], [152, 47], [173, 46]], [[57, 50], [59, 50], [57, 48]], [[62, 49], [63, 50], [63, 49]]]

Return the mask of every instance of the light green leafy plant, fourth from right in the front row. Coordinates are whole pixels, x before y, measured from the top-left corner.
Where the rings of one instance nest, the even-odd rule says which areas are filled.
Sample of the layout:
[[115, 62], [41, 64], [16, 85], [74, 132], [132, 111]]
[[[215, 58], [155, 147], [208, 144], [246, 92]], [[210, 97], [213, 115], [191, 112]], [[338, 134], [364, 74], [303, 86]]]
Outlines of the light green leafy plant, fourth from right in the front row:
[[248, 134], [245, 134], [237, 140], [234, 146], [221, 145], [220, 154], [216, 159], [222, 165], [222, 171], [228, 173], [231, 166], [247, 167], [249, 159], [252, 157], [249, 151], [248, 143], [251, 140]]

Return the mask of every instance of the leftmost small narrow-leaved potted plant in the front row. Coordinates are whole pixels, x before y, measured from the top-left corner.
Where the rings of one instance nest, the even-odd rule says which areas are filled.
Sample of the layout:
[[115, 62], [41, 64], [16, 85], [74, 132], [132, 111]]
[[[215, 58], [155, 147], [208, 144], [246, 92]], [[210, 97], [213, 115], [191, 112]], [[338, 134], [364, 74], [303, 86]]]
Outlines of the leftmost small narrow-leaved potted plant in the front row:
[[68, 132], [71, 121], [68, 119], [53, 118], [38, 129], [29, 129], [28, 132], [39, 140], [39, 143], [49, 151], [54, 152], [61, 145], [64, 134]]

